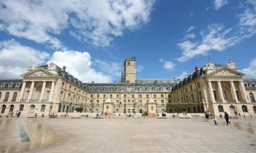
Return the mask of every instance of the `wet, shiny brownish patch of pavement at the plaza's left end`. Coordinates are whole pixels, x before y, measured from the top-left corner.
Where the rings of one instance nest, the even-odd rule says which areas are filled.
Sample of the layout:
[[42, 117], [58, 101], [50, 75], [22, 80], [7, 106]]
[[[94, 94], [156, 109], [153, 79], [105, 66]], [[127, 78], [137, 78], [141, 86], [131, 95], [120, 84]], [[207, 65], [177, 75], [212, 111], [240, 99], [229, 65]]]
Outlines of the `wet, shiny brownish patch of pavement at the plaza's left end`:
[[59, 141], [54, 131], [27, 118], [0, 120], [0, 135], [0, 152], [22, 152]]

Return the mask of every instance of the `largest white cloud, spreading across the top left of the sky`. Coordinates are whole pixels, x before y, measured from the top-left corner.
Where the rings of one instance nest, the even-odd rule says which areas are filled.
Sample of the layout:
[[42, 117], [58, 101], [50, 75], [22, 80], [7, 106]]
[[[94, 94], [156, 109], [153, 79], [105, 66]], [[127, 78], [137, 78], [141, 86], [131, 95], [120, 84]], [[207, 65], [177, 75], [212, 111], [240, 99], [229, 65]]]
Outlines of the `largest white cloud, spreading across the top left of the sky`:
[[147, 23], [153, 4], [154, 0], [4, 0], [0, 1], [0, 20], [11, 35], [51, 48], [66, 49], [56, 38], [63, 29], [80, 41], [109, 46], [114, 36]]

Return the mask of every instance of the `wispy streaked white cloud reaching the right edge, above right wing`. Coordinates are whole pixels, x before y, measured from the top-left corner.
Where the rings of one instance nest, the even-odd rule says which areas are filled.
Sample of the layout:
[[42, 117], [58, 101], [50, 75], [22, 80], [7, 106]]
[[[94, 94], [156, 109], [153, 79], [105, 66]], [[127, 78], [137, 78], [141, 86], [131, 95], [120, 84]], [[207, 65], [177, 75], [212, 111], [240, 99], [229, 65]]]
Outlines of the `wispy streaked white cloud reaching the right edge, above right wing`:
[[238, 15], [238, 26], [225, 28], [222, 24], [210, 24], [201, 31], [201, 40], [191, 41], [193, 37], [186, 35], [177, 44], [182, 49], [182, 56], [177, 61], [184, 62], [199, 55], [206, 55], [210, 50], [223, 51], [240, 41], [256, 34], [256, 2], [247, 0], [244, 10]]

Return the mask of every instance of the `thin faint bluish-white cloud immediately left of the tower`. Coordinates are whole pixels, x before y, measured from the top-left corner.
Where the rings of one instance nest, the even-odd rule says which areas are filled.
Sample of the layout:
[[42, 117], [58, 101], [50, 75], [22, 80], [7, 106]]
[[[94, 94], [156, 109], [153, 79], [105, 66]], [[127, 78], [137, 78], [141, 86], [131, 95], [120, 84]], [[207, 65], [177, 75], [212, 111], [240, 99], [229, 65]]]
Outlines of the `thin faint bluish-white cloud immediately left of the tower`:
[[95, 64], [104, 73], [107, 73], [108, 75], [113, 75], [116, 77], [121, 77], [122, 63], [105, 62], [105, 61], [100, 61], [100, 60], [96, 60], [95, 62], [96, 62]]

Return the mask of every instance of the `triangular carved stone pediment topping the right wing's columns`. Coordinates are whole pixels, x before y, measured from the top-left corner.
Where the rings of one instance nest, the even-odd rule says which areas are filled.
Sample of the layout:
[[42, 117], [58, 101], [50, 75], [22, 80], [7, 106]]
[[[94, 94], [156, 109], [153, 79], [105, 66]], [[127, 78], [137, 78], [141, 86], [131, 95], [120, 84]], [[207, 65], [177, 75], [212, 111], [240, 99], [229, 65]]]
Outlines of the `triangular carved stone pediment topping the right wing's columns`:
[[214, 76], [244, 76], [244, 73], [237, 71], [236, 69], [230, 69], [229, 67], [220, 67], [215, 71], [212, 71], [208, 75]]

